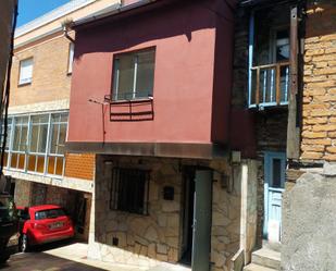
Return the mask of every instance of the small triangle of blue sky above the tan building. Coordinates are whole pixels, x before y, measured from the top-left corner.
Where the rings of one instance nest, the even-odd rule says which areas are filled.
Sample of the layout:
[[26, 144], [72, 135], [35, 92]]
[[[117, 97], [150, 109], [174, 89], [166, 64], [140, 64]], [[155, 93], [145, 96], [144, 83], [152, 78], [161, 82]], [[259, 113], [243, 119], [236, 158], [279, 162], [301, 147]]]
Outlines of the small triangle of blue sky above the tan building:
[[17, 27], [69, 1], [70, 0], [18, 0]]

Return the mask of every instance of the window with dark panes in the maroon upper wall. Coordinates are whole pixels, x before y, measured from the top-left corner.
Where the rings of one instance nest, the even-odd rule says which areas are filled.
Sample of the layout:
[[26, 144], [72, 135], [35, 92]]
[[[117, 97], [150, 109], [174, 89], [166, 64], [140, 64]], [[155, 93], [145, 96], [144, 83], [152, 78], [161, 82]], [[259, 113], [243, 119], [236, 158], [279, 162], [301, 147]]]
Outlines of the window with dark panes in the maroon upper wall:
[[152, 97], [155, 49], [122, 53], [113, 61], [113, 100]]

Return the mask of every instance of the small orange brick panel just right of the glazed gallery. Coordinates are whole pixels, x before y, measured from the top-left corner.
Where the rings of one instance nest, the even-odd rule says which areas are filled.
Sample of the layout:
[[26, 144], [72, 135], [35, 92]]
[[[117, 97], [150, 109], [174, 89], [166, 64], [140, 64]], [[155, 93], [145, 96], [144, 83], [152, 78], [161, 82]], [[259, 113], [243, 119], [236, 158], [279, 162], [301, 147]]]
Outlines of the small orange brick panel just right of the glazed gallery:
[[94, 180], [96, 156], [91, 153], [67, 153], [65, 156], [66, 177]]

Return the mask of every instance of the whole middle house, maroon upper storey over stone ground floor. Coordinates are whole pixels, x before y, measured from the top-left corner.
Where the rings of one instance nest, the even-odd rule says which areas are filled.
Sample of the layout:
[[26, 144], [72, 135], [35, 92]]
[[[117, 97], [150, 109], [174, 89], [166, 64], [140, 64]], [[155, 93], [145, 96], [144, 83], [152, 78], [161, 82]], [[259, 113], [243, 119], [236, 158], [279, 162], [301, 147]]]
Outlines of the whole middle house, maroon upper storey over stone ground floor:
[[248, 261], [258, 161], [249, 113], [231, 107], [234, 9], [133, 1], [73, 23], [66, 149], [96, 153], [89, 257], [201, 271]]

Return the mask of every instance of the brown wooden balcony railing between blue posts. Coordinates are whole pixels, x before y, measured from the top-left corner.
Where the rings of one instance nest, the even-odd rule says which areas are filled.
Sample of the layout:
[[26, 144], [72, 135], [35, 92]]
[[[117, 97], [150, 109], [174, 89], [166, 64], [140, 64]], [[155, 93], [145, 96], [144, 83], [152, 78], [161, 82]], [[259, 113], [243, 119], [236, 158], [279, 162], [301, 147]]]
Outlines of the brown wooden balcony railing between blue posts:
[[274, 107], [288, 103], [289, 62], [251, 67], [249, 107]]

